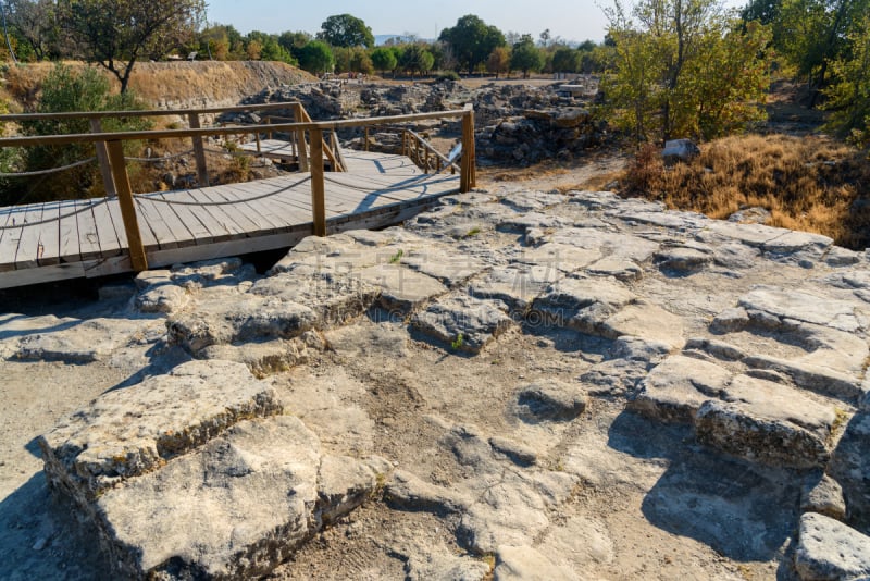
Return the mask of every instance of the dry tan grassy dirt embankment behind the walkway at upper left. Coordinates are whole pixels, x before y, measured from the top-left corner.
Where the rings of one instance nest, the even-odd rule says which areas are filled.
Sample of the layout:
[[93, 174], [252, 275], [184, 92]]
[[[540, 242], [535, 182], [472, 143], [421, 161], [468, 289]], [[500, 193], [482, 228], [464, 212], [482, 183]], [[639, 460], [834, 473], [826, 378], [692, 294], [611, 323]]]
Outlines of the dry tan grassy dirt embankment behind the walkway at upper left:
[[[85, 66], [82, 63], [70, 64]], [[53, 66], [52, 63], [35, 63], [10, 67], [5, 72], [5, 90], [20, 110], [26, 111], [34, 106], [42, 82]], [[117, 86], [114, 77], [112, 81], [113, 86]], [[156, 108], [176, 109], [236, 104], [244, 97], [266, 87], [311, 81], [316, 78], [279, 62], [144, 62], [134, 66], [129, 87]]]

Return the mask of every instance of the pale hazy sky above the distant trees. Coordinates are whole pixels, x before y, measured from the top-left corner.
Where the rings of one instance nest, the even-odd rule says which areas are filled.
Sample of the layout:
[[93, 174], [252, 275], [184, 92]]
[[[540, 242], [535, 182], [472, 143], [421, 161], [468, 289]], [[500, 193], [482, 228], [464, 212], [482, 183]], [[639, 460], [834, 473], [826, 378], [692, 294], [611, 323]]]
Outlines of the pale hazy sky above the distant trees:
[[606, 21], [596, 4], [611, 0], [207, 0], [210, 23], [232, 24], [240, 33], [304, 30], [314, 34], [333, 14], [352, 14], [375, 35], [412, 33], [436, 38], [465, 14], [475, 14], [502, 33], [529, 33], [535, 39], [549, 28], [566, 40], [602, 40]]

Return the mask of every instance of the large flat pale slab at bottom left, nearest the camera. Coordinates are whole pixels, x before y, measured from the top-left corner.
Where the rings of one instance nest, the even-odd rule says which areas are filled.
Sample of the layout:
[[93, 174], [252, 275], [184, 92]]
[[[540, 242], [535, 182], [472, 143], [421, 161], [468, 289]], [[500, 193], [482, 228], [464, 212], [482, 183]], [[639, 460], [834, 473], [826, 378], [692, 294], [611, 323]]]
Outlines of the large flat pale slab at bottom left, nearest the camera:
[[108, 490], [95, 510], [116, 573], [268, 573], [315, 530], [320, 461], [316, 437], [298, 419], [278, 417], [241, 422], [160, 471]]

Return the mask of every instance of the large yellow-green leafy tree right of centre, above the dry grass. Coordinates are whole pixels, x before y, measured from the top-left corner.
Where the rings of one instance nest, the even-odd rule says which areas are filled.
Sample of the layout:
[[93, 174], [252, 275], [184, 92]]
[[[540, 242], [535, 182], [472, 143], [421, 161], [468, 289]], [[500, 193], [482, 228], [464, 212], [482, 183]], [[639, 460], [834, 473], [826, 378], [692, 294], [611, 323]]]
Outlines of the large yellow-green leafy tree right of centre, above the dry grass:
[[714, 0], [643, 0], [608, 11], [616, 71], [602, 82], [609, 113], [637, 140], [711, 138], [763, 118], [769, 29], [741, 30]]

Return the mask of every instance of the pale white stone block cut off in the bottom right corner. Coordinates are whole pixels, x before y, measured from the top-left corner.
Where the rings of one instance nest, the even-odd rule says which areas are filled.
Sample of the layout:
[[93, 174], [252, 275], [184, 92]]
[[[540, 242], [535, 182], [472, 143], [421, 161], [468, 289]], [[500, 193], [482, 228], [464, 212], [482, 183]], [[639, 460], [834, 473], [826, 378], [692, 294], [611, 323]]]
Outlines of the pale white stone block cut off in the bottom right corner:
[[800, 517], [795, 569], [801, 580], [867, 579], [870, 537], [816, 512]]

